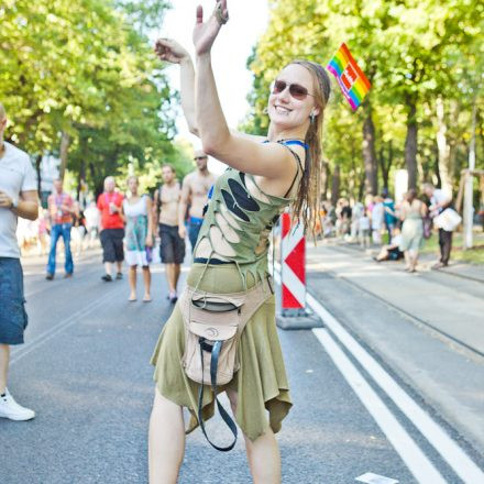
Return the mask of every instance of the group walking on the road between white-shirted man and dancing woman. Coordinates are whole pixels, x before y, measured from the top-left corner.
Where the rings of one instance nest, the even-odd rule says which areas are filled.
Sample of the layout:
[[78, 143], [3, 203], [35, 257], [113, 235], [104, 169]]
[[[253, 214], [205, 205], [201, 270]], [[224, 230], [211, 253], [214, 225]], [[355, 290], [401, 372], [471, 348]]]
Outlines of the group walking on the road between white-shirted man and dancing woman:
[[[54, 190], [47, 201], [51, 249], [46, 279], [55, 277], [57, 242], [61, 238], [64, 242], [66, 278], [74, 273], [72, 237], [76, 237], [79, 245], [84, 240], [90, 245], [99, 234], [105, 267], [102, 280], [110, 283], [122, 279], [123, 265], [128, 265], [128, 300], [136, 301], [136, 273], [141, 267], [143, 301], [150, 302], [150, 265], [160, 260], [165, 265], [167, 298], [176, 302], [180, 265], [185, 260], [185, 239], [188, 233], [194, 249], [208, 191], [216, 180], [207, 168], [208, 156], [205, 153], [198, 151], [194, 161], [197, 169], [188, 174], [183, 184], [176, 179], [173, 166], [164, 165], [163, 184], [155, 190], [153, 199], [148, 194], [140, 194], [136, 176], [128, 178], [125, 195], [117, 188], [114, 177], [108, 176], [97, 202], [90, 202], [85, 210], [80, 210], [79, 204], [64, 191], [61, 179], [54, 180]], [[160, 235], [158, 243], [156, 234]]]

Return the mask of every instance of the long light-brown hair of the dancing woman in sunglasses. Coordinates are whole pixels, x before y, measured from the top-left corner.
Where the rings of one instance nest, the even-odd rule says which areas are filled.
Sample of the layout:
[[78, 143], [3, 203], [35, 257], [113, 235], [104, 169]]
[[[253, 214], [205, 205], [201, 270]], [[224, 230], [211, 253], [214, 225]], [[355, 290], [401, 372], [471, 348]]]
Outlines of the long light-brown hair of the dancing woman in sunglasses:
[[331, 92], [329, 76], [322, 66], [310, 61], [293, 61], [288, 65], [297, 64], [309, 70], [315, 85], [315, 105], [320, 112], [311, 120], [306, 133], [306, 164], [299, 190], [292, 205], [295, 217], [304, 223], [305, 232], [308, 228], [315, 232], [317, 218], [319, 217], [321, 202], [321, 143], [322, 143], [322, 121], [324, 108]]

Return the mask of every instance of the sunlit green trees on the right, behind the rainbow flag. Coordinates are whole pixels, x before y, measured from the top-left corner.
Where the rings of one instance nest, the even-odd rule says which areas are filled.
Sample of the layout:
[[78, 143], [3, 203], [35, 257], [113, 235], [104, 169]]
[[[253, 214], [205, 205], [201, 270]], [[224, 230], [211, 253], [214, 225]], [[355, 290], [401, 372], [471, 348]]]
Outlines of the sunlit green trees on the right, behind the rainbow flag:
[[342, 195], [361, 199], [391, 188], [392, 173], [402, 167], [410, 187], [431, 180], [455, 189], [466, 165], [473, 103], [477, 165], [484, 167], [482, 1], [270, 3], [268, 29], [248, 61], [254, 81], [246, 129], [264, 134], [268, 86], [284, 65], [298, 57], [326, 65], [345, 42], [372, 90], [352, 113], [334, 82], [324, 114], [324, 166], [340, 174]]

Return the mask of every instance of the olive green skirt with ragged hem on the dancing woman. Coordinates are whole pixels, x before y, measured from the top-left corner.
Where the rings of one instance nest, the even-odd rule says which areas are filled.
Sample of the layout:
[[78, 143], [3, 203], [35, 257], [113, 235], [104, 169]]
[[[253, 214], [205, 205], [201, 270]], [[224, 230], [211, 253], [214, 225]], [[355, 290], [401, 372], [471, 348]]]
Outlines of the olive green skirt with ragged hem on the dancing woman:
[[[197, 286], [204, 270], [204, 264], [194, 264], [187, 280], [190, 287]], [[248, 288], [253, 285], [254, 280], [250, 280], [249, 276]], [[198, 287], [220, 294], [244, 290], [239, 271], [232, 264], [209, 265]], [[188, 433], [198, 427], [196, 414], [200, 384], [193, 382], [185, 374], [182, 365], [184, 351], [184, 321], [177, 304], [162, 330], [151, 362], [156, 367], [154, 381], [160, 393], [190, 410]], [[238, 393], [235, 420], [239, 427], [251, 440], [265, 433], [268, 426], [274, 432], [278, 432], [293, 404], [276, 330], [274, 296], [270, 297], [249, 320], [239, 342], [238, 359], [240, 370], [233, 380], [219, 391], [232, 389]], [[215, 409], [213, 392], [207, 385], [204, 388], [202, 405], [204, 420], [207, 420], [213, 416]]]

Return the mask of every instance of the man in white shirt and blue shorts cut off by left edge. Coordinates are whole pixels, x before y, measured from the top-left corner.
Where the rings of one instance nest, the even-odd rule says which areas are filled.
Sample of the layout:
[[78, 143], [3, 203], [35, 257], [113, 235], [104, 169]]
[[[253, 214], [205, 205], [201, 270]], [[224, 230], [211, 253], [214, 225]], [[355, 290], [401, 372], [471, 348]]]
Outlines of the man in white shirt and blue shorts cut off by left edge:
[[6, 127], [7, 114], [0, 103], [0, 417], [30, 420], [35, 413], [13, 399], [7, 388], [7, 375], [10, 345], [23, 343], [28, 323], [16, 221], [18, 217], [37, 218], [38, 196], [30, 157], [3, 141]]

